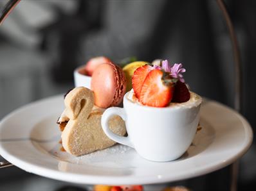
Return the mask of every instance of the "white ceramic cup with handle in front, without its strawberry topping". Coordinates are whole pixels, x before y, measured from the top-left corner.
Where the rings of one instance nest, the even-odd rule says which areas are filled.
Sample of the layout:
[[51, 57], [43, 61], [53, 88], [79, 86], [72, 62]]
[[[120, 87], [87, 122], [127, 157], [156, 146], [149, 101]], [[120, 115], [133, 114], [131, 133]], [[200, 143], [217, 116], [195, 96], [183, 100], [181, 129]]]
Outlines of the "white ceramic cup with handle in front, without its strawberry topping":
[[[102, 129], [115, 142], [133, 147], [140, 156], [154, 162], [176, 160], [184, 154], [196, 135], [201, 97], [193, 92], [187, 103], [165, 108], [143, 106], [123, 97], [123, 108], [112, 107], [102, 115]], [[108, 126], [111, 116], [125, 120], [128, 136], [114, 134]]]

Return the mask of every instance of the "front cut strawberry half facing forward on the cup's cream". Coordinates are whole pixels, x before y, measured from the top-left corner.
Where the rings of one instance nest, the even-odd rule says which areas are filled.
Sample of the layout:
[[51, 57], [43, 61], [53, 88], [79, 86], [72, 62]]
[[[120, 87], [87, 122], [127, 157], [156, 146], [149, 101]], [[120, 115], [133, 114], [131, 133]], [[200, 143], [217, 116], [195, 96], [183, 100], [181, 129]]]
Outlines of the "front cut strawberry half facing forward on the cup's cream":
[[165, 107], [172, 99], [172, 85], [165, 85], [162, 81], [163, 72], [156, 69], [147, 74], [142, 90], [140, 91], [139, 101], [142, 104], [153, 107]]

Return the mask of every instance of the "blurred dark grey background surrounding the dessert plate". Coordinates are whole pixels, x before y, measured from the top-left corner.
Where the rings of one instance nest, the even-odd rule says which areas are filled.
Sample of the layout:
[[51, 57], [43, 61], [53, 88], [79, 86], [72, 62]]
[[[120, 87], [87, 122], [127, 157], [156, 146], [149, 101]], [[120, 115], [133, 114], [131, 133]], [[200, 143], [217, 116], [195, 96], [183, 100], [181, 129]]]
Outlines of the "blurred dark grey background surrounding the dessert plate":
[[[0, 1], [0, 9], [7, 1]], [[242, 58], [242, 115], [255, 129], [256, 1], [225, 1]], [[234, 62], [216, 1], [22, 0], [0, 27], [0, 119], [19, 106], [73, 85], [73, 70], [93, 56], [183, 63], [200, 95], [233, 107]], [[239, 190], [255, 190], [255, 144], [240, 160]], [[0, 190], [84, 190], [82, 185], [0, 169]], [[170, 183], [228, 190], [230, 167]], [[168, 184], [168, 183], [167, 183]], [[156, 188], [151, 188], [156, 189]]]

